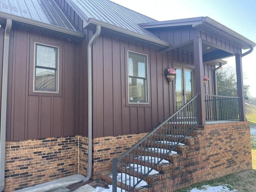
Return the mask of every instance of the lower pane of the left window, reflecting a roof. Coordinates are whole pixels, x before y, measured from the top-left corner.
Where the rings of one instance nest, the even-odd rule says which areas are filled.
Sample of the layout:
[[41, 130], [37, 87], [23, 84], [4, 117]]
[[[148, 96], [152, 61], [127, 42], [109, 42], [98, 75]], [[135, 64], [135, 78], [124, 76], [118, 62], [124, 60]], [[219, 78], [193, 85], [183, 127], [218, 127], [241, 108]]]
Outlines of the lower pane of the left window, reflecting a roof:
[[35, 90], [56, 91], [56, 70], [36, 68]]

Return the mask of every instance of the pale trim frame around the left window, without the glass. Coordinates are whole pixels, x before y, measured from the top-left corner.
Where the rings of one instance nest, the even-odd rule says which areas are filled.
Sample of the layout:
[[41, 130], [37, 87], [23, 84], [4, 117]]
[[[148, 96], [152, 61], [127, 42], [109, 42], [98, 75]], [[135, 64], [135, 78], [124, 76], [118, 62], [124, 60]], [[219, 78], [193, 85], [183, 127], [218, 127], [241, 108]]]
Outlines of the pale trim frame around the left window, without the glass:
[[[56, 91], [43, 91], [43, 90], [35, 90], [35, 75], [36, 75], [36, 45], [43, 45], [43, 46], [48, 46], [48, 47], [53, 47], [57, 48], [57, 72], [56, 72]], [[54, 46], [50, 44], [44, 44], [44, 43], [39, 43], [39, 42], [34, 42], [34, 66], [33, 66], [33, 92], [36, 93], [59, 93], [59, 82], [60, 82], [60, 75], [59, 75], [59, 69], [60, 69], [60, 47], [59, 46]]]

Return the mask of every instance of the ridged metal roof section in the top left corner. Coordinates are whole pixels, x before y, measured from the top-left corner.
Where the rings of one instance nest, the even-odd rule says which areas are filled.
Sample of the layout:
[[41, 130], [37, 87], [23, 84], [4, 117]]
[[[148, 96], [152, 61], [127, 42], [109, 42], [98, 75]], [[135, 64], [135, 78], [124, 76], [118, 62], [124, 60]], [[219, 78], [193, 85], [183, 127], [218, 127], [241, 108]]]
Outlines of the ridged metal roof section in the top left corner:
[[54, 0], [0, 0], [0, 12], [75, 31]]

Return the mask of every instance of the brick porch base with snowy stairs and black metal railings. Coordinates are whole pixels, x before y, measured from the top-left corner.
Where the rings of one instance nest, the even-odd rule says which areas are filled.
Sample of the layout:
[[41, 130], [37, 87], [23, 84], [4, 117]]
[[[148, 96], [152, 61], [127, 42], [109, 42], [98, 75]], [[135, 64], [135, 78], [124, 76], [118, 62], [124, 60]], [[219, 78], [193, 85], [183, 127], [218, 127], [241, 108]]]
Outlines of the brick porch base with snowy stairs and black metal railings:
[[113, 184], [113, 192], [116, 187], [129, 192], [173, 192], [234, 170], [251, 169], [250, 142], [244, 142], [250, 139], [250, 126], [240, 119], [239, 100], [206, 95], [207, 119], [202, 125], [198, 121], [199, 96], [195, 96], [113, 159], [112, 172], [100, 173], [100, 178]]

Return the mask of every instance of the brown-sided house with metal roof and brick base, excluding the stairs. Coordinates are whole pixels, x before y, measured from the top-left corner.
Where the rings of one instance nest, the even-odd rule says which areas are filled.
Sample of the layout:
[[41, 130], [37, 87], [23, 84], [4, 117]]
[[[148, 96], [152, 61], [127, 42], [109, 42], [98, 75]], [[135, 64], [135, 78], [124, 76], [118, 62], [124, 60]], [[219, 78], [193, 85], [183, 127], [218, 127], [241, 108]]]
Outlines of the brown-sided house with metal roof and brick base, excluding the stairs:
[[[167, 186], [252, 168], [242, 57], [254, 42], [208, 17], [159, 22], [108, 0], [4, 0], [0, 24], [1, 191], [73, 174], [96, 180], [195, 96], [197, 150]], [[230, 56], [235, 102], [216, 96], [216, 68]]]

